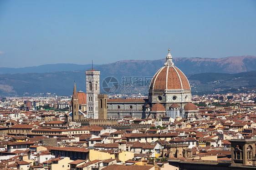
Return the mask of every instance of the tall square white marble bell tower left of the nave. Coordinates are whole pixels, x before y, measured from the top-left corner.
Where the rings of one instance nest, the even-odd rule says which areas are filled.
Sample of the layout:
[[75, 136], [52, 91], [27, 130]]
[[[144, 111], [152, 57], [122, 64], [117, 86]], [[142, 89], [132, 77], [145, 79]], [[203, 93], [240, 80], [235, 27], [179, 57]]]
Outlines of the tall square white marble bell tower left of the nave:
[[98, 95], [100, 94], [100, 71], [89, 70], [86, 74], [87, 118], [98, 119]]

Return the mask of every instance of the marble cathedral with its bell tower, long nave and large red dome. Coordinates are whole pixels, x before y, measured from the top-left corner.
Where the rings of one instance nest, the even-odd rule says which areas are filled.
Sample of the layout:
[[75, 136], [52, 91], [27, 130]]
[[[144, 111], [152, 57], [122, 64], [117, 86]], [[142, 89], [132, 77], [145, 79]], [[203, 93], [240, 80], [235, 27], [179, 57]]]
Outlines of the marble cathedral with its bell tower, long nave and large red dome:
[[[85, 118], [122, 119], [125, 116], [131, 116], [138, 119], [159, 119], [167, 116], [175, 119], [177, 116], [193, 117], [192, 113], [196, 110], [193, 112], [184, 110], [190, 109], [192, 104], [190, 103], [189, 81], [184, 73], [174, 65], [172, 59], [169, 50], [164, 66], [156, 72], [151, 80], [148, 99], [107, 99], [107, 95], [100, 95], [100, 71], [93, 69], [86, 71], [87, 111]], [[73, 96], [72, 108], [76, 107], [74, 104], [77, 102], [74, 92]], [[186, 107], [186, 105], [190, 107]], [[73, 121], [82, 119], [77, 115], [73, 115], [72, 118]]]

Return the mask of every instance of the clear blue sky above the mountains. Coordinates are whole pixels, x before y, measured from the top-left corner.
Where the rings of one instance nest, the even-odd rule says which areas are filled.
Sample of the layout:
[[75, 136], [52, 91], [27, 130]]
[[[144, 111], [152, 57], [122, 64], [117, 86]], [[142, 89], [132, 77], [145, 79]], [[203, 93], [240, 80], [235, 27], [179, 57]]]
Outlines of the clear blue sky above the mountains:
[[155, 60], [168, 48], [256, 55], [256, 1], [0, 0], [0, 67]]

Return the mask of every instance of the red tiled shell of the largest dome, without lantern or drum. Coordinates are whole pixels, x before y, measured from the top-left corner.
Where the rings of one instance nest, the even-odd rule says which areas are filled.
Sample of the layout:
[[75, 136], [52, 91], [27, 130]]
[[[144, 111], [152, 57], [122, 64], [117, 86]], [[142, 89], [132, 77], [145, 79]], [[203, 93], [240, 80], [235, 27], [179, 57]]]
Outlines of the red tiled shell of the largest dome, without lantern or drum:
[[[167, 80], [166, 80], [167, 79]], [[165, 65], [153, 77], [149, 89], [184, 89], [190, 90], [187, 77], [176, 66]]]

